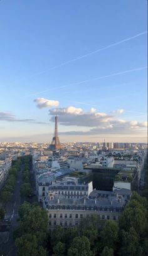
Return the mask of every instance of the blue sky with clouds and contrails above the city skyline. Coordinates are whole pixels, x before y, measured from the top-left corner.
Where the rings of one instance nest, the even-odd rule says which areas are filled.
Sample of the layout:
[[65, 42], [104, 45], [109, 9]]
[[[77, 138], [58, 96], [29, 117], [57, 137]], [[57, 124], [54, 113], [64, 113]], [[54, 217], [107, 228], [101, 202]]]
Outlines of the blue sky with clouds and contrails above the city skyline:
[[1, 0], [0, 21], [1, 141], [51, 141], [58, 114], [62, 142], [146, 142], [147, 1]]

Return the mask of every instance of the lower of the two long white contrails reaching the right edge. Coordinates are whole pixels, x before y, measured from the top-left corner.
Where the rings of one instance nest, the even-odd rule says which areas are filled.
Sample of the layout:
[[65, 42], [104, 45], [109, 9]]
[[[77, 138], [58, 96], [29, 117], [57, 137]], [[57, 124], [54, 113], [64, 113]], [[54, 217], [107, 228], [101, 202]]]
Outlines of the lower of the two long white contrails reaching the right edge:
[[44, 92], [50, 92], [52, 90], [58, 90], [58, 89], [61, 89], [61, 88], [70, 87], [72, 85], [80, 85], [82, 83], [92, 82], [92, 81], [95, 81], [95, 80], [100, 80], [100, 79], [104, 79], [104, 78], [108, 78], [108, 77], [115, 77], [116, 75], [122, 75], [122, 74], [125, 74], [125, 73], [130, 73], [130, 72], [134, 72], [134, 71], [144, 70], [146, 68], [147, 67], [134, 68], [132, 70], [125, 70], [125, 71], [114, 73], [114, 74], [111, 74], [111, 75], [105, 75], [103, 77], [95, 77], [95, 78], [91, 78], [91, 79], [88, 79], [88, 80], [83, 80], [83, 81], [80, 81], [80, 82], [68, 83], [67, 85], [62, 85], [62, 86], [59, 86], [59, 87], [54, 87], [54, 88], [51, 88], [51, 89], [48, 89], [48, 90], [43, 90], [43, 91], [40, 91], [40, 92], [34, 92], [34, 93], [31, 93], [31, 94], [26, 95], [24, 97], [29, 97], [31, 95], [36, 95], [36, 94], [40, 94], [40, 93], [44, 93]]

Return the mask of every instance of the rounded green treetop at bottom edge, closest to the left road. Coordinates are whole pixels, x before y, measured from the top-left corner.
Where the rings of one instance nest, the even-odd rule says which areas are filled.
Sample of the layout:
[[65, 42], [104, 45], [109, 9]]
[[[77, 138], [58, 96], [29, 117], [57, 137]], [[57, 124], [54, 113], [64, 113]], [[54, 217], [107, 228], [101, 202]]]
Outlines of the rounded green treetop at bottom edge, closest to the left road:
[[38, 243], [35, 235], [26, 234], [22, 237], [16, 238], [15, 244], [18, 256], [38, 255]]

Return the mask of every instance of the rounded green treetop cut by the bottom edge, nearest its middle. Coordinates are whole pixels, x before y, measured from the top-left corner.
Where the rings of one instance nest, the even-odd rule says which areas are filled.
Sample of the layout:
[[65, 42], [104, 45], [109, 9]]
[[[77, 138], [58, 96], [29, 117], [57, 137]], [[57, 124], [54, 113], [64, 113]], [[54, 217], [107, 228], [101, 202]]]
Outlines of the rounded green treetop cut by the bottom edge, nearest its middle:
[[68, 256], [93, 256], [87, 237], [75, 237], [68, 249]]

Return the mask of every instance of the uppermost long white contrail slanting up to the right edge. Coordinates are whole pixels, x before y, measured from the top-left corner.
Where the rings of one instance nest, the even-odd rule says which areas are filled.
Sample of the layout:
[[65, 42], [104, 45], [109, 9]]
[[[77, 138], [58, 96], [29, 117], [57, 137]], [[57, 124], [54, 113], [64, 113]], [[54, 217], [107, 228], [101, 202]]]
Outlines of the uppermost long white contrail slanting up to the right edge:
[[125, 43], [126, 41], [130, 41], [130, 40], [132, 40], [132, 39], [134, 39], [134, 38], [137, 38], [137, 37], [142, 36], [142, 35], [145, 35], [145, 34], [147, 34], [147, 31], [141, 32], [141, 33], [139, 33], [139, 34], [137, 34], [137, 35], [134, 35], [134, 36], [130, 36], [129, 38], [125, 38], [124, 40], [121, 40], [121, 41], [112, 43], [111, 45], [107, 45], [107, 46], [105, 46], [105, 47], [103, 47], [103, 48], [100, 48], [100, 49], [98, 49], [98, 50], [92, 51], [92, 52], [90, 52], [90, 53], [86, 53], [85, 55], [78, 56], [77, 58], [73, 58], [72, 60], [65, 61], [65, 62], [63, 62], [63, 63], [61, 63], [61, 64], [59, 64], [59, 65], [56, 65], [56, 66], [51, 67], [51, 68], [48, 68], [48, 69], [43, 70], [43, 71], [41, 71], [41, 72], [34, 73], [34, 74], [32, 74], [32, 75], [30, 75], [30, 76], [28, 76], [28, 77], [24, 77], [24, 78], [22, 78], [22, 79], [20, 79], [20, 80], [15, 80], [14, 82], [11, 82], [11, 84], [12, 84], [12, 83], [16, 83], [16, 82], [20, 82], [20, 81], [22, 81], [22, 80], [27, 80], [27, 79], [29, 79], [29, 78], [35, 77], [36, 75], [41, 75], [41, 74], [46, 73], [46, 72], [49, 72], [49, 71], [51, 71], [51, 70], [55, 70], [56, 68], [63, 67], [63, 66], [65, 66], [65, 65], [67, 65], [67, 64], [69, 64], [69, 63], [71, 63], [71, 62], [74, 62], [74, 61], [77, 61], [77, 60], [81, 60], [82, 58], [86, 58], [86, 57], [91, 56], [91, 55], [93, 55], [93, 54], [95, 54], [95, 53], [98, 53], [98, 52], [100, 52], [100, 51], [103, 51], [103, 50], [106, 50], [106, 49], [108, 49], [108, 48], [114, 47], [114, 46], [116, 46], [116, 45], [120, 45], [120, 44], [122, 44], [122, 43]]

